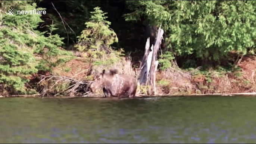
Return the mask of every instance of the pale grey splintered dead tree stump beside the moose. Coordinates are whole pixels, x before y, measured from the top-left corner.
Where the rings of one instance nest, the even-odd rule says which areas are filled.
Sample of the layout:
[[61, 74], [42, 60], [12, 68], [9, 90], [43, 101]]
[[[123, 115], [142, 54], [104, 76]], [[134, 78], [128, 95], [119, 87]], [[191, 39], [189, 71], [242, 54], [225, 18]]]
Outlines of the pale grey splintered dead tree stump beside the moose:
[[[156, 94], [156, 71], [158, 66], [157, 52], [163, 39], [163, 29], [159, 28], [154, 45], [150, 47], [150, 38], [147, 38], [145, 45], [145, 53], [140, 66], [140, 77], [138, 77], [138, 85], [150, 85], [149, 95]], [[151, 51], [150, 51], [151, 50]]]

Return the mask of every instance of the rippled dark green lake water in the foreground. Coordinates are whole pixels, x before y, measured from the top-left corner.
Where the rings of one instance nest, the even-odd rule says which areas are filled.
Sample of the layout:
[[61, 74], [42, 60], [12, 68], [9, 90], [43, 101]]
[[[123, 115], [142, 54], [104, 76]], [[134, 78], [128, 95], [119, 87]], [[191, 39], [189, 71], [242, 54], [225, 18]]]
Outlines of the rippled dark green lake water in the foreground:
[[0, 143], [256, 143], [256, 98], [1, 98]]

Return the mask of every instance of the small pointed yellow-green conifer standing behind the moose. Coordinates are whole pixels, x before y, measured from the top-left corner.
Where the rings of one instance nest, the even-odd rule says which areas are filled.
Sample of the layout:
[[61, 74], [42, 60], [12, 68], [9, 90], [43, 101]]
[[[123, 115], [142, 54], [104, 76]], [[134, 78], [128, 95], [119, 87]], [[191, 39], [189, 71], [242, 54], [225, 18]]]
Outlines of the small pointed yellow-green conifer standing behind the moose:
[[106, 21], [107, 18], [100, 10], [100, 7], [95, 7], [91, 12], [91, 18], [89, 22], [85, 22], [86, 29], [81, 32], [78, 37], [78, 44], [75, 46], [79, 51], [85, 51], [88, 49], [96, 49], [97, 51], [103, 50], [103, 47], [110, 49], [110, 45], [118, 42], [116, 33], [109, 28], [111, 24]]

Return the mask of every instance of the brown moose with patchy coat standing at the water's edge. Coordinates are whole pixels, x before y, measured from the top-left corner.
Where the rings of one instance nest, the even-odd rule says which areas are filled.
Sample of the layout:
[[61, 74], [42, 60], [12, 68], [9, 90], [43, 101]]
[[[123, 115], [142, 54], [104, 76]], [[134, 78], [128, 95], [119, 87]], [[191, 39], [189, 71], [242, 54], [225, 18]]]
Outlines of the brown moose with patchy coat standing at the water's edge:
[[131, 75], [119, 74], [117, 69], [110, 69], [109, 72], [103, 70], [102, 73], [96, 71], [90, 90], [94, 93], [100, 87], [105, 97], [109, 94], [113, 97], [135, 97], [137, 81]]

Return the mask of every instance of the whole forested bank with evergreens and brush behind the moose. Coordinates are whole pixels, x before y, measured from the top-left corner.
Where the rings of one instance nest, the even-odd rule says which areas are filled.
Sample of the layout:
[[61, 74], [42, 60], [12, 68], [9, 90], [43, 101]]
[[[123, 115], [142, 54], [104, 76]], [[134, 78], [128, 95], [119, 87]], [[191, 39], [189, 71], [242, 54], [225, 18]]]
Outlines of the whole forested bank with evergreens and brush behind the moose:
[[247, 0], [1, 0], [0, 96], [88, 96], [94, 70], [137, 78], [158, 28], [158, 95], [252, 93], [255, 12]]

